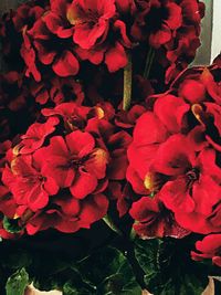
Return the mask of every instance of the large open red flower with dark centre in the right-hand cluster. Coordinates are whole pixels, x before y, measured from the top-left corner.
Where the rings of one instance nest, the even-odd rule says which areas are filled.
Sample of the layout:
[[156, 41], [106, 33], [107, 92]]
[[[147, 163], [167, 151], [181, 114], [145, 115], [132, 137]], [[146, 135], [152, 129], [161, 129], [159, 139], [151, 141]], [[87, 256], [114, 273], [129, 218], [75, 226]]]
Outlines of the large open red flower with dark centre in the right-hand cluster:
[[[175, 212], [178, 223], [191, 231], [219, 231], [219, 224], [209, 220], [220, 200], [220, 180], [213, 150], [206, 149], [198, 158], [188, 141], [180, 135], [171, 136], [160, 146], [154, 170], [169, 176], [159, 194], [165, 206]], [[207, 168], [208, 162], [210, 169]], [[198, 223], [192, 223], [197, 219]]]

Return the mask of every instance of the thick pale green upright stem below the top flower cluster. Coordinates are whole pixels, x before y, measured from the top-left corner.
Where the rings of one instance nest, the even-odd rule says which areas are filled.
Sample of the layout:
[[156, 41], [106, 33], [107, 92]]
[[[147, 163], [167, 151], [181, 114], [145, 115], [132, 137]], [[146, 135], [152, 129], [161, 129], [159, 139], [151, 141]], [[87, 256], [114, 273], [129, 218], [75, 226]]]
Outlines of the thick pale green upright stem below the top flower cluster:
[[128, 63], [124, 69], [124, 98], [123, 98], [123, 109], [128, 110], [131, 103], [131, 53], [127, 54]]

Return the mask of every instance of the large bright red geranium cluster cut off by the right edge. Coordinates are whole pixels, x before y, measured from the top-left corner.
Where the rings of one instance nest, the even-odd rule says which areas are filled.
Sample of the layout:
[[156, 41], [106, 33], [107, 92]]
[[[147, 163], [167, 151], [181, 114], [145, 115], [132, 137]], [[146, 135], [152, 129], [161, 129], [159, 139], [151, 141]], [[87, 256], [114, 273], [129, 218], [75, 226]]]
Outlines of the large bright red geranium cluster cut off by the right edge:
[[221, 232], [220, 73], [218, 62], [187, 70], [167, 93], [147, 99], [152, 107], [137, 120], [127, 179], [145, 196], [130, 210], [144, 238], [180, 238], [180, 226], [214, 236]]

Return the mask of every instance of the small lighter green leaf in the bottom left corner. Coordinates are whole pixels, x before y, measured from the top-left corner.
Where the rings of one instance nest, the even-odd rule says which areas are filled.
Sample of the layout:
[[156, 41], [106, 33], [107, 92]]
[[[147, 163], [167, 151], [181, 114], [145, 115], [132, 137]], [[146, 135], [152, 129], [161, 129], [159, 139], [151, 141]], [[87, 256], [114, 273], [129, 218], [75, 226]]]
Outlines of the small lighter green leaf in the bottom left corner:
[[23, 295], [29, 285], [29, 275], [24, 268], [13, 273], [7, 281], [7, 295]]

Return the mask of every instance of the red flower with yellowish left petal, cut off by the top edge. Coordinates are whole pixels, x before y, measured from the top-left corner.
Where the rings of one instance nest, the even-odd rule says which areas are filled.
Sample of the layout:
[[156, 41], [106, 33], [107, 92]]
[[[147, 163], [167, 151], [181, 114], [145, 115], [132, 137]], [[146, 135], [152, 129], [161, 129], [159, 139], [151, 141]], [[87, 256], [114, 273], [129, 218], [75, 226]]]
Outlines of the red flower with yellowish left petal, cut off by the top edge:
[[86, 50], [103, 43], [115, 10], [114, 0], [73, 1], [67, 11], [67, 19], [74, 25], [74, 42]]

